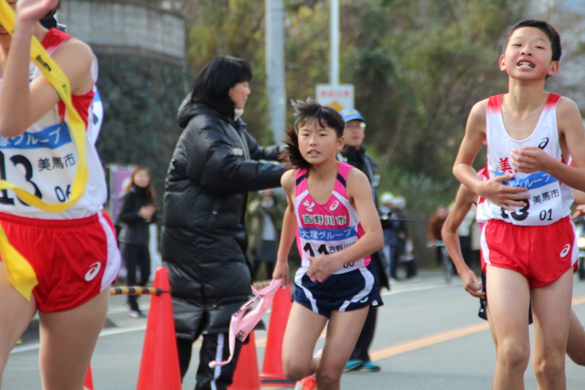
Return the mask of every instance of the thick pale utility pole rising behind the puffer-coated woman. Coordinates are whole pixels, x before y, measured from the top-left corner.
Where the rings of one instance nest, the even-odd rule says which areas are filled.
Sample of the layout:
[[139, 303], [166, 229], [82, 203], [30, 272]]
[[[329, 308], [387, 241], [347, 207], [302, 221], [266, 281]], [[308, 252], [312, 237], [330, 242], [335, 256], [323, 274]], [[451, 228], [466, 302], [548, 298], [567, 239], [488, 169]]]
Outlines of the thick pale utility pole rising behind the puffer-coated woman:
[[286, 123], [284, 86], [284, 10], [282, 0], [265, 0], [266, 90], [274, 142], [282, 142]]

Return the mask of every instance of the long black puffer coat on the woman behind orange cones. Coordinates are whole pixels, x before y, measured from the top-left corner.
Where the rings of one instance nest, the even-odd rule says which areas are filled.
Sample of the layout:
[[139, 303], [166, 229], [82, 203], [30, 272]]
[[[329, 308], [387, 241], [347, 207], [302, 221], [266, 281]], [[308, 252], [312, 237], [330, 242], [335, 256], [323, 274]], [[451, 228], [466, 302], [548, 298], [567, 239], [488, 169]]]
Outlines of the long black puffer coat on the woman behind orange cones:
[[169, 269], [176, 335], [228, 332], [250, 297], [244, 224], [250, 191], [280, 186], [278, 147], [261, 148], [243, 121], [201, 103], [178, 113], [185, 131], [165, 181], [162, 253]]

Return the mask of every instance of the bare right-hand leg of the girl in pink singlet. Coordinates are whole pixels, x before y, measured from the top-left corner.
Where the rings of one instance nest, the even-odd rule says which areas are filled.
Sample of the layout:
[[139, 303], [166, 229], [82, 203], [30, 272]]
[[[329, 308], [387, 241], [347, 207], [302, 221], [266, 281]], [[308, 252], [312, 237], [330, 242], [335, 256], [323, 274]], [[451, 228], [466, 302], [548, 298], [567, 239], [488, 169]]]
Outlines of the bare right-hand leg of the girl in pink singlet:
[[341, 374], [354, 350], [369, 307], [356, 311], [332, 311], [321, 362], [317, 367], [319, 390], [339, 390]]

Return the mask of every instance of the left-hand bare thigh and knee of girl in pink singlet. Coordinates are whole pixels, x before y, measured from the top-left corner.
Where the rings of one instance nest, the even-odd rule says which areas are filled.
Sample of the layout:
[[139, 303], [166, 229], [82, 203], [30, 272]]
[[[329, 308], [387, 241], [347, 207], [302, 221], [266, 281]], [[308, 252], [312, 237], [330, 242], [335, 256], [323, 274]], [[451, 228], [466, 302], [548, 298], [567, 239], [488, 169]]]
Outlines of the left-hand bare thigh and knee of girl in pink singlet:
[[300, 381], [315, 373], [319, 362], [313, 358], [314, 345], [326, 322], [323, 315], [293, 302], [282, 341], [282, 368], [288, 379]]

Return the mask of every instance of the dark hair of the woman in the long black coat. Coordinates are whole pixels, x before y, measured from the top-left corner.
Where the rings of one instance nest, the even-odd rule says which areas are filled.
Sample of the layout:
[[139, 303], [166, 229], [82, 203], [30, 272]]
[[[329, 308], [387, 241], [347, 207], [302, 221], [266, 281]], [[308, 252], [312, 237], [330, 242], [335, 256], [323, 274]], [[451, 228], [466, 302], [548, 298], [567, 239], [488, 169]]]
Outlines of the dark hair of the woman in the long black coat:
[[248, 61], [235, 57], [218, 57], [207, 62], [201, 69], [191, 87], [191, 102], [201, 102], [233, 118], [233, 100], [229, 90], [240, 82], [252, 79], [252, 69]]

